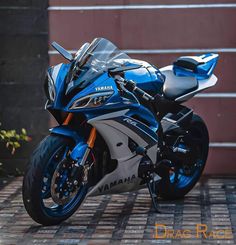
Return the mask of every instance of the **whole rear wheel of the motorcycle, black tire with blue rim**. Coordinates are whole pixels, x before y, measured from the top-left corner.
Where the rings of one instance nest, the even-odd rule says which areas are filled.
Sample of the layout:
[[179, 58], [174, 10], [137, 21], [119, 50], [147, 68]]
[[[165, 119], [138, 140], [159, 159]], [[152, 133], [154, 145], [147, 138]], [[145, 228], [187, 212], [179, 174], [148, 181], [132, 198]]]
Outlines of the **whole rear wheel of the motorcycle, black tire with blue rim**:
[[159, 184], [160, 196], [164, 199], [178, 199], [184, 197], [198, 182], [205, 167], [208, 149], [209, 136], [204, 121], [193, 115], [189, 128], [190, 139], [182, 141], [179, 147], [189, 152], [178, 158], [175, 168], [164, 173]]

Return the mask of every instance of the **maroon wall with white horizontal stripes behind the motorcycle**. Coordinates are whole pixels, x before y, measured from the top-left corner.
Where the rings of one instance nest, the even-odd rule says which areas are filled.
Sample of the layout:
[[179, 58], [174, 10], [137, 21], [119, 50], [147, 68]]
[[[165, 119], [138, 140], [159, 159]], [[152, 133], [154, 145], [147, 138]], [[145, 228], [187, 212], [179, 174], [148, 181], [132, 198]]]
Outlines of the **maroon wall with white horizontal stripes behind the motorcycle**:
[[[195, 5], [189, 8], [188, 4]], [[211, 148], [205, 173], [231, 174], [236, 173], [235, 23], [234, 0], [51, 0], [49, 41], [75, 51], [86, 41], [105, 37], [129, 50], [131, 57], [157, 67], [181, 55], [219, 53], [217, 86], [187, 104], [209, 127]], [[63, 61], [49, 54], [50, 64]]]

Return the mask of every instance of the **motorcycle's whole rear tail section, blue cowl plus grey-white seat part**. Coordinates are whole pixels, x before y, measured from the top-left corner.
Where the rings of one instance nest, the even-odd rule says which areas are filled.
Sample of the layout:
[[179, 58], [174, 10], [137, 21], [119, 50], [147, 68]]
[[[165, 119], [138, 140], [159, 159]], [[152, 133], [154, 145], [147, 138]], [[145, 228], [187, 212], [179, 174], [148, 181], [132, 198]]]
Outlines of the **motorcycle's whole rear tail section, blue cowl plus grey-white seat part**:
[[165, 75], [164, 96], [176, 102], [184, 102], [195, 94], [213, 87], [217, 77], [213, 74], [218, 54], [182, 56], [173, 65], [160, 69]]

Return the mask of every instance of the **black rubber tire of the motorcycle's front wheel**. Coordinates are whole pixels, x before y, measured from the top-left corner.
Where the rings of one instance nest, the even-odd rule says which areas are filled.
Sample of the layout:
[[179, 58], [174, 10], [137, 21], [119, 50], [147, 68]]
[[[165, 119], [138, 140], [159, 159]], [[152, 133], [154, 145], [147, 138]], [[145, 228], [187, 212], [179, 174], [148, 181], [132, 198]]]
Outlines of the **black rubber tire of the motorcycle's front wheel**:
[[61, 223], [77, 210], [87, 194], [87, 187], [82, 186], [67, 204], [50, 206], [52, 175], [72, 145], [72, 140], [68, 138], [50, 135], [38, 145], [30, 158], [22, 193], [26, 211], [37, 223]]

